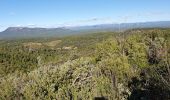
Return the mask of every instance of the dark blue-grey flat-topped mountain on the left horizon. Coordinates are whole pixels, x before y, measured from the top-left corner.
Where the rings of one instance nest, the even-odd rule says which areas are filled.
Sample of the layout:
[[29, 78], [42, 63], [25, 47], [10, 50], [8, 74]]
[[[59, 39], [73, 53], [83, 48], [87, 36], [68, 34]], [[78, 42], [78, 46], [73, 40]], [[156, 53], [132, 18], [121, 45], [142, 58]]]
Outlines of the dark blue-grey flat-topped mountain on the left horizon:
[[0, 32], [0, 38], [29, 38], [46, 36], [65, 36], [74, 33], [66, 28], [28, 28], [28, 27], [9, 27]]

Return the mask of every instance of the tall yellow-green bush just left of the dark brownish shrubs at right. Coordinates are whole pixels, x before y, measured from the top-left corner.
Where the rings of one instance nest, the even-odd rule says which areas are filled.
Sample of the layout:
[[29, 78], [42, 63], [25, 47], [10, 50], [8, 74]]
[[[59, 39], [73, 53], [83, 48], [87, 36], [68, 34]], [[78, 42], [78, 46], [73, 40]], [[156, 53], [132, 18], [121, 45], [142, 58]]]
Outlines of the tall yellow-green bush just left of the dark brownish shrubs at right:
[[125, 41], [125, 53], [133, 67], [148, 67], [147, 45], [141, 34], [129, 35]]

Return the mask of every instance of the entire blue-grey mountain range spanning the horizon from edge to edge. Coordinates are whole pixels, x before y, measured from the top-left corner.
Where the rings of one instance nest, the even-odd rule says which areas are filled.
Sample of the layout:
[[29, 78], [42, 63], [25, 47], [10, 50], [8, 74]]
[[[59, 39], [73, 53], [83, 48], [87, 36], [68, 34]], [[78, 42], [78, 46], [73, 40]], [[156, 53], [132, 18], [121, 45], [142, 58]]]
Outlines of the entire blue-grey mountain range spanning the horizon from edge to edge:
[[3, 38], [31, 38], [31, 37], [51, 37], [67, 36], [73, 34], [83, 34], [89, 32], [102, 31], [124, 31], [136, 28], [170, 28], [170, 21], [142, 22], [142, 23], [121, 23], [121, 24], [100, 24], [92, 26], [62, 27], [62, 28], [28, 28], [9, 27], [0, 32], [0, 39]]

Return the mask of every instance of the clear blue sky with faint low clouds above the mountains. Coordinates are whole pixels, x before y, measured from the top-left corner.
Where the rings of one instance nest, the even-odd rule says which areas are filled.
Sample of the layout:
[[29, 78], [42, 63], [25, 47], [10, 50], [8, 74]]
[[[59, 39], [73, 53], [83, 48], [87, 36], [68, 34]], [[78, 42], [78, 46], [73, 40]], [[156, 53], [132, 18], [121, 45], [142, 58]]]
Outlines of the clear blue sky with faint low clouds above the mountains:
[[0, 31], [147, 21], [170, 21], [170, 0], [0, 0]]

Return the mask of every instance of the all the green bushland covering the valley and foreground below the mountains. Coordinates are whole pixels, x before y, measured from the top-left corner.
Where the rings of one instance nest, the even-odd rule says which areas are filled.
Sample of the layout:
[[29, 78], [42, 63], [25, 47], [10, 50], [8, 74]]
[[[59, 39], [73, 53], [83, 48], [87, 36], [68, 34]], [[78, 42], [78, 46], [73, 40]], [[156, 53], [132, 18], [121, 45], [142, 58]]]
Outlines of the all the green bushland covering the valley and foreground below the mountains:
[[2, 100], [169, 100], [170, 29], [0, 41]]

